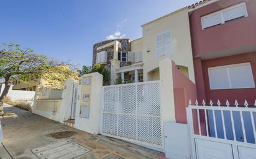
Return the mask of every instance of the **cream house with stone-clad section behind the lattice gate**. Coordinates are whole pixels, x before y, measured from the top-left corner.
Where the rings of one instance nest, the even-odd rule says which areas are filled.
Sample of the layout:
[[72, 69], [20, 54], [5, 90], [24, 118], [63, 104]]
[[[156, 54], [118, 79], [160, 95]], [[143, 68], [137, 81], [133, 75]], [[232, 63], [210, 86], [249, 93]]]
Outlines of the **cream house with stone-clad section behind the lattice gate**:
[[185, 7], [142, 25], [142, 38], [105, 40], [93, 46], [93, 64], [111, 72], [111, 85], [159, 80], [159, 62], [172, 59], [194, 81], [188, 8]]

